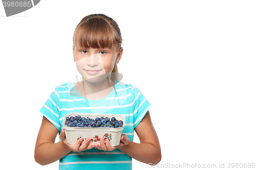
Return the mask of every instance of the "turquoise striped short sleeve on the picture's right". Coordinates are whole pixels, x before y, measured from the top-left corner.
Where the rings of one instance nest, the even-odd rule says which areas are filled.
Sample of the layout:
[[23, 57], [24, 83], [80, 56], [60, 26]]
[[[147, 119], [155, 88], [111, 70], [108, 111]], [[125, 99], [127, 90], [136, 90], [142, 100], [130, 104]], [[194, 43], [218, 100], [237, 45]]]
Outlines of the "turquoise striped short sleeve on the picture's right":
[[136, 87], [132, 87], [132, 96], [134, 128], [136, 128], [152, 105], [146, 100], [142, 92]]

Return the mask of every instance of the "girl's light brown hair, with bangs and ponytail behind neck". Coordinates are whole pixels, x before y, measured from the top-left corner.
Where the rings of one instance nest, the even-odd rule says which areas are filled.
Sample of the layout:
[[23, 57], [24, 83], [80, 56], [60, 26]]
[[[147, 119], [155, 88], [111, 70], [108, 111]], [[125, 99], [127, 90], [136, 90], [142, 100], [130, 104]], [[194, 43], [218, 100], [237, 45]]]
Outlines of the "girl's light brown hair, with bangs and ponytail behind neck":
[[[76, 26], [73, 44], [84, 48], [111, 48], [112, 45], [120, 51], [122, 44], [121, 32], [116, 21], [104, 14], [88, 15]], [[112, 80], [118, 80], [117, 65], [112, 72], [115, 76]]]

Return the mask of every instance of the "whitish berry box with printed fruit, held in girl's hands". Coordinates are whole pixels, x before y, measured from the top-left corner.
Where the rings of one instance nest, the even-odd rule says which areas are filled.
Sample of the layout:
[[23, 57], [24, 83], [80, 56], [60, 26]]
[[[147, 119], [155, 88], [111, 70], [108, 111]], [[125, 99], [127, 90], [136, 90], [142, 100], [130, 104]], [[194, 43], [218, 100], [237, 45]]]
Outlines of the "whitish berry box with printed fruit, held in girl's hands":
[[[66, 125], [66, 118], [71, 116], [78, 116], [81, 117], [90, 117], [95, 119], [96, 117], [109, 117], [110, 119], [112, 117], [115, 117], [117, 120], [122, 120], [123, 126], [119, 128], [79, 128], [79, 127], [69, 127]], [[62, 122], [62, 128], [65, 129], [65, 134], [67, 138], [67, 142], [69, 144], [74, 144], [79, 138], [83, 138], [82, 143], [85, 139], [88, 137], [91, 138], [91, 141], [89, 144], [92, 143], [98, 143], [100, 144], [100, 137], [110, 140], [110, 145], [112, 147], [115, 147], [120, 143], [120, 138], [122, 135], [122, 131], [125, 127], [125, 116], [122, 116], [120, 114], [101, 114], [101, 113], [70, 113], [66, 114], [63, 122]]]

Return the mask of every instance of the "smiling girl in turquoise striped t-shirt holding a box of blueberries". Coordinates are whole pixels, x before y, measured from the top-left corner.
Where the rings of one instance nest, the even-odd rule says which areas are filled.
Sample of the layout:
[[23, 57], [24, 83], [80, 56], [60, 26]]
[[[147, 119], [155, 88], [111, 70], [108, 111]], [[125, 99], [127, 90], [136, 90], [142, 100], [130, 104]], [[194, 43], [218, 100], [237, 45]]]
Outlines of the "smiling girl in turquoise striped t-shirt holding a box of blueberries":
[[[118, 81], [121, 43], [117, 23], [106, 15], [88, 15], [78, 23], [73, 56], [82, 81], [57, 86], [40, 109], [43, 116], [35, 144], [36, 162], [47, 165], [59, 160], [59, 169], [132, 169], [132, 158], [147, 164], [161, 160], [151, 104], [138, 88]], [[120, 144], [112, 147], [102, 137], [100, 144], [89, 145], [91, 138], [69, 144], [61, 127], [63, 117], [72, 112], [123, 114], [126, 125]], [[133, 142], [134, 130], [140, 143]], [[57, 134], [60, 140], [54, 143]]]

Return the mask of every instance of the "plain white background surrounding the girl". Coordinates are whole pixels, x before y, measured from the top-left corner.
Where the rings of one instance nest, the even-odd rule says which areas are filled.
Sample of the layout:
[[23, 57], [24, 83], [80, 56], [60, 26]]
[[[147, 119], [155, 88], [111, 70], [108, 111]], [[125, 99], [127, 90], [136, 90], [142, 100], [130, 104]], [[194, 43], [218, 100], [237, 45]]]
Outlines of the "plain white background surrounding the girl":
[[[1, 4], [2, 164], [58, 168], [58, 161], [34, 161], [39, 110], [56, 86], [76, 82], [73, 33], [93, 13], [120, 27], [121, 82], [152, 104], [159, 166], [256, 164], [255, 7], [255, 1], [41, 1], [6, 17]], [[152, 168], [133, 159], [133, 169]]]

